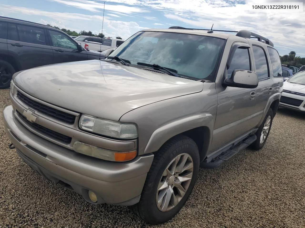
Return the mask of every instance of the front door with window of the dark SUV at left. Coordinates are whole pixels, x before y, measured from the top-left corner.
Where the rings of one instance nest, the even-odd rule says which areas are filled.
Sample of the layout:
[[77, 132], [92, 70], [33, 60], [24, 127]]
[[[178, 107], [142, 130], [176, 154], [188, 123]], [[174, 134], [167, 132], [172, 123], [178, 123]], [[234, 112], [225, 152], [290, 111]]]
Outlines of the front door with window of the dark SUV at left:
[[53, 50], [54, 63], [66, 63], [87, 60], [87, 51], [79, 49], [77, 43], [64, 33], [48, 29]]

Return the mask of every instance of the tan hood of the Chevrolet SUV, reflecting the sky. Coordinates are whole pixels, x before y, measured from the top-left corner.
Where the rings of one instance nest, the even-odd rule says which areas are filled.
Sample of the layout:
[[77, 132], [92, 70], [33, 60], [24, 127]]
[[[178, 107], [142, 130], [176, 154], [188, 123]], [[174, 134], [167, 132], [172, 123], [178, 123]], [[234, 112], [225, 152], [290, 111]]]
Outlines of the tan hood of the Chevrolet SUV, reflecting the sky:
[[45, 102], [111, 120], [143, 105], [203, 89], [199, 81], [100, 60], [32, 68], [15, 74], [13, 82]]

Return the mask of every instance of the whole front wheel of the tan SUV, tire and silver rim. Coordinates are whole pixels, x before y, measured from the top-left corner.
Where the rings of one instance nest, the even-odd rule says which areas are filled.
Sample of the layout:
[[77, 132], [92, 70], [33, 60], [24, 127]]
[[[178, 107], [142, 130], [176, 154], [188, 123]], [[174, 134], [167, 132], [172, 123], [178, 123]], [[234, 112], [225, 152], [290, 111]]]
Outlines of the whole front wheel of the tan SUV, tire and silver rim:
[[138, 204], [131, 209], [146, 223], [173, 218], [187, 201], [199, 172], [199, 151], [187, 136], [177, 136], [157, 151]]

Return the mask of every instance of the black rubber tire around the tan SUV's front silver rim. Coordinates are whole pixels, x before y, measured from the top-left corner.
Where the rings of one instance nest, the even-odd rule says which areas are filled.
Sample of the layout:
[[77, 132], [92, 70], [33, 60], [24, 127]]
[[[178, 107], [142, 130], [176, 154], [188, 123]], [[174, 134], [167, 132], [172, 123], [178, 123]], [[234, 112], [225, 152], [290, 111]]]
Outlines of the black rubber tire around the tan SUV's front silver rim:
[[[183, 190], [185, 190], [188, 186], [188, 188], [185, 191], [185, 194], [182, 197], [180, 191], [178, 191], [178, 188], [176, 186], [164, 188], [160, 192], [158, 191], [159, 197], [160, 195], [163, 195], [162, 193], [164, 191], [166, 192], [173, 191], [174, 194], [177, 194], [176, 202], [174, 201], [174, 196], [173, 195], [170, 196], [171, 202], [169, 203], [169, 208], [168, 208], [169, 210], [161, 211], [157, 206], [157, 200], [158, 200], [157, 188], [160, 181], [164, 181], [164, 183], [166, 182], [167, 177], [163, 177], [163, 174], [166, 173], [165, 169], [172, 161], [174, 161], [174, 159], [177, 156], [178, 159], [180, 159], [180, 160], [177, 159], [178, 164], [182, 164], [181, 161], [187, 157], [187, 162], [185, 162], [184, 167], [188, 166], [188, 164], [190, 164], [190, 161], [192, 161], [193, 163], [193, 168], [187, 169], [185, 172], [182, 172], [179, 175], [183, 176], [189, 174], [192, 171], [193, 172], [192, 177], [189, 181], [181, 182], [183, 183], [181, 186], [185, 187]], [[173, 166], [170, 166], [168, 170], [173, 170], [172, 169], [173, 167], [174, 164]], [[177, 171], [178, 169], [180, 169], [179, 165], [175, 171]], [[172, 140], [165, 143], [160, 148], [160, 150], [156, 152], [154, 160], [152, 162], [152, 166], [146, 177], [146, 181], [141, 194], [141, 199], [137, 204], [130, 207], [131, 210], [141, 219], [143, 219], [146, 223], [150, 223], [152, 225], [164, 223], [172, 219], [180, 211], [182, 206], [187, 201], [189, 195], [191, 194], [192, 189], [194, 188], [194, 185], [196, 183], [198, 172], [199, 172], [199, 151], [196, 143], [187, 136], [176, 136]], [[168, 182], [166, 183], [167, 185], [170, 185], [171, 183], [173, 183], [172, 185], [177, 185], [177, 182], [180, 181], [180, 178], [181, 178], [180, 176], [177, 178], [170, 177], [168, 179]], [[169, 188], [171, 188], [171, 190]], [[163, 201], [161, 200], [159, 202], [165, 202], [165, 201], [166, 201], [166, 197], [163, 198]], [[176, 206], [170, 209], [170, 207], [174, 205], [172, 203], [176, 204]], [[162, 209], [162, 205], [163, 203], [160, 206], [161, 209]], [[166, 207], [163, 208], [163, 210], [165, 209]]]

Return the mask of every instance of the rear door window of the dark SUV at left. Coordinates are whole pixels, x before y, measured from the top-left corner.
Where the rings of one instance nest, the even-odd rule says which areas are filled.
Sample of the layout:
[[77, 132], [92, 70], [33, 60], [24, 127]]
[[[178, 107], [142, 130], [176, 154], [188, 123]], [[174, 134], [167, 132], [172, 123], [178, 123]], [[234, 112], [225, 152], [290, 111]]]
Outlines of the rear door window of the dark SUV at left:
[[27, 25], [16, 26], [19, 34], [19, 41], [46, 45], [44, 29]]

